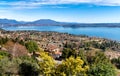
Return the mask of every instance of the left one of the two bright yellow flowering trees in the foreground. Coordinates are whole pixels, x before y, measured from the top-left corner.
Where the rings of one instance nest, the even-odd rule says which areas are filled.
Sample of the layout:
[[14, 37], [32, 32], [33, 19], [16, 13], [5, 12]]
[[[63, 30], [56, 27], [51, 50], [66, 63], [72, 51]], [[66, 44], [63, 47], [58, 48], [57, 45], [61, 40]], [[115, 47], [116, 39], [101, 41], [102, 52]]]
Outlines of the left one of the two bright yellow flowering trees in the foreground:
[[55, 71], [54, 59], [45, 52], [40, 52], [39, 66], [40, 74], [43, 76], [52, 76]]

